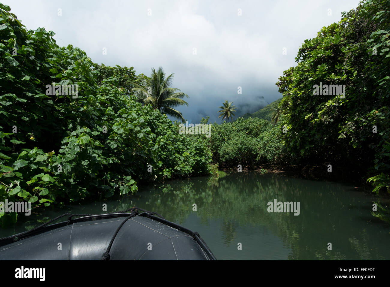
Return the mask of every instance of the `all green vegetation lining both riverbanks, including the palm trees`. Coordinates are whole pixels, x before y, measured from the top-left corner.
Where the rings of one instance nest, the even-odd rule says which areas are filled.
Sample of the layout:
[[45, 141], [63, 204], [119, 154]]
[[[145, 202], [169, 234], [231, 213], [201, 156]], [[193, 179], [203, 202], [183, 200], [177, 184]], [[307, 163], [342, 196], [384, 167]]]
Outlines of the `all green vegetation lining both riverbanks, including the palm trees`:
[[[93, 63], [77, 47], [58, 46], [54, 32], [25, 29], [0, 4], [0, 201], [35, 208], [104, 199], [142, 182], [218, 177], [240, 165], [309, 169], [390, 191], [389, 13], [385, 0], [344, 13], [304, 41], [266, 119], [214, 123], [206, 137], [179, 134], [168, 119], [184, 121], [173, 107], [188, 95], [162, 69], [148, 77]], [[322, 84], [345, 85], [345, 96], [315, 95]], [[220, 108], [232, 119], [231, 102]], [[16, 219], [0, 212], [1, 225]]]

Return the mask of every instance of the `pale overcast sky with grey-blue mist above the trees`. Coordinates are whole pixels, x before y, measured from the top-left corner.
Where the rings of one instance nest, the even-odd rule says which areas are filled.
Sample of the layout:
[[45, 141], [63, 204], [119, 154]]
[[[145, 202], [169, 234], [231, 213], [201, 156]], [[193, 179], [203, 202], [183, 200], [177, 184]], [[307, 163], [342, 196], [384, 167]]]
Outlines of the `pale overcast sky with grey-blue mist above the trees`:
[[221, 122], [217, 111], [225, 100], [242, 116], [280, 98], [275, 83], [295, 66], [303, 41], [338, 22], [359, 0], [2, 3], [28, 29], [52, 30], [58, 45], [78, 46], [93, 62], [132, 66], [137, 74], [150, 75], [159, 66], [174, 73], [173, 87], [190, 96], [189, 106], [177, 109], [199, 123], [202, 116]]

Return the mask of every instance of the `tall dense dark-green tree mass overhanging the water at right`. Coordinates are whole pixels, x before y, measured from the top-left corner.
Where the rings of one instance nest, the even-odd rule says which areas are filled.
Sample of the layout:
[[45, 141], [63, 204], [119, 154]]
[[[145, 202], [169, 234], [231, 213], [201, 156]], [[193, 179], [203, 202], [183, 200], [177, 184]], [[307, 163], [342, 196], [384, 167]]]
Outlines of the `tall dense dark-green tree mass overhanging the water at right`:
[[[390, 2], [361, 2], [339, 23], [305, 40], [297, 66], [277, 83], [291, 153], [308, 163], [323, 162], [324, 169], [332, 164], [336, 173], [371, 174], [374, 185], [388, 191], [389, 36]], [[314, 85], [321, 83], [345, 85], [345, 96], [314, 94]]]

